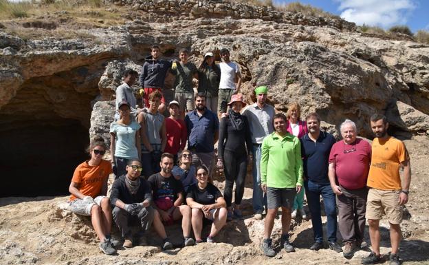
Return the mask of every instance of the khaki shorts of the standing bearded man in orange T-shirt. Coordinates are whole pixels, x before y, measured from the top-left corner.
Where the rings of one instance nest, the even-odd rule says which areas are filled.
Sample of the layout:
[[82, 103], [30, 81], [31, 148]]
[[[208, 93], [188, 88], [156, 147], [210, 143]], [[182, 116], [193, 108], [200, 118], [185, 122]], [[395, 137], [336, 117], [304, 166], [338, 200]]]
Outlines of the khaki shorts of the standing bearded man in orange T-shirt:
[[381, 220], [386, 215], [391, 224], [402, 222], [404, 207], [399, 205], [399, 194], [401, 191], [383, 191], [380, 189], [369, 189], [366, 200], [365, 218]]

